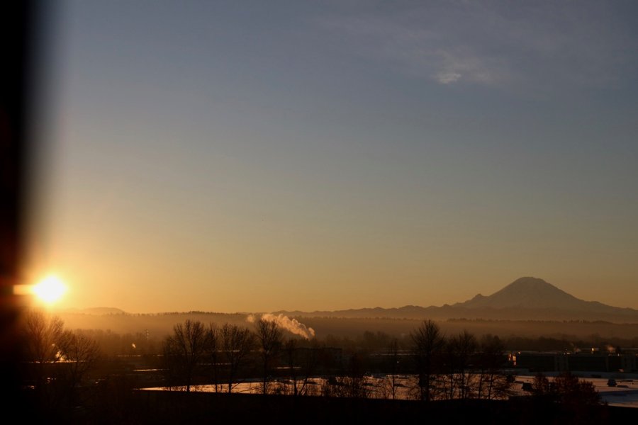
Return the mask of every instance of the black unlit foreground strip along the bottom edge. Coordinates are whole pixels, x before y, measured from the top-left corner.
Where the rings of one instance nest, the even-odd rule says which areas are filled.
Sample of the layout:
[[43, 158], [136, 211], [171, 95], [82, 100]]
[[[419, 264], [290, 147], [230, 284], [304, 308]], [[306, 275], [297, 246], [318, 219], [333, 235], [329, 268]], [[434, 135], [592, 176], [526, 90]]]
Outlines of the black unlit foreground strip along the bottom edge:
[[123, 391], [100, 387], [91, 404], [33, 409], [21, 419], [43, 424], [634, 424], [638, 409], [556, 402], [543, 395], [505, 400], [413, 400], [290, 397], [210, 392]]

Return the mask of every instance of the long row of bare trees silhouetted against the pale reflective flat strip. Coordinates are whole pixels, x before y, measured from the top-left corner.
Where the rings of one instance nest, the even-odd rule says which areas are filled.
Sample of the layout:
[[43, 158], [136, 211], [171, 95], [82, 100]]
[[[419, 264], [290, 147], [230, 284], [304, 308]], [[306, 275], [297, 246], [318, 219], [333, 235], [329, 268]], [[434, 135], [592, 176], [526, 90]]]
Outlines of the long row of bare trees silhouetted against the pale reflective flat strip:
[[[382, 336], [370, 332], [364, 339], [372, 341]], [[326, 346], [286, 339], [276, 322], [264, 319], [254, 322], [252, 331], [234, 324], [218, 327], [186, 320], [174, 326], [163, 348], [167, 387], [183, 387], [186, 391], [196, 382], [212, 382], [216, 392], [222, 390], [222, 384], [225, 392], [232, 392], [242, 369], [244, 376], [261, 376], [263, 394], [308, 394], [310, 385], [317, 385], [310, 382], [311, 376], [326, 372], [330, 378], [321, 381], [313, 394], [369, 397], [374, 392], [377, 397], [398, 398], [401, 388], [402, 398], [424, 401], [505, 399], [513, 383], [504, 372], [507, 356], [497, 336], [483, 336], [480, 341], [466, 331], [444, 336], [431, 320], [422, 322], [410, 334], [408, 346], [388, 338], [376, 358], [369, 351], [348, 350], [341, 361], [335, 361], [334, 356], [325, 353]], [[327, 359], [332, 360], [331, 365]], [[383, 378], [371, 384], [366, 376], [370, 370]], [[286, 390], [289, 387], [292, 390]]]

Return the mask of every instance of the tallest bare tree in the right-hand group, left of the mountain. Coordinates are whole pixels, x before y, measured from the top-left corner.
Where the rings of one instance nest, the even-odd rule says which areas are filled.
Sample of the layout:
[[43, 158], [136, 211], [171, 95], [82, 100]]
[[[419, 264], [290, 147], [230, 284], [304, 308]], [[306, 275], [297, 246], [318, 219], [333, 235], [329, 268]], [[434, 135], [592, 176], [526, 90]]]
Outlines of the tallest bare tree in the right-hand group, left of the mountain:
[[419, 375], [420, 398], [430, 401], [437, 373], [437, 361], [445, 339], [439, 325], [432, 320], [424, 320], [417, 329], [410, 333], [410, 338]]

